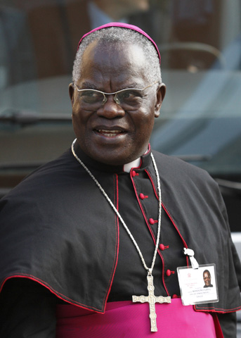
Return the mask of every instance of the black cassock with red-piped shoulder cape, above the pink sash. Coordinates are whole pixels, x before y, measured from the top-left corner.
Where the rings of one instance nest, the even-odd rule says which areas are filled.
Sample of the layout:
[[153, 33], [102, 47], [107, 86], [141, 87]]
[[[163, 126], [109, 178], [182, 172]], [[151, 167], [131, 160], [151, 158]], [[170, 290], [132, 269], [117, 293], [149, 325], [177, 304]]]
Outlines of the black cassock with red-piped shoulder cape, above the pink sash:
[[[150, 151], [130, 173], [93, 161], [78, 146], [76, 152], [117, 207], [150, 266], [158, 219]], [[241, 267], [217, 184], [200, 168], [152, 154], [162, 188], [161, 237], [152, 273], [155, 294], [180, 296], [176, 268], [190, 265], [183, 247], [193, 249], [199, 264], [216, 264], [219, 289], [218, 303], [196, 305], [195, 310], [219, 313], [223, 331], [235, 337], [230, 320], [241, 308]], [[25, 322], [27, 330], [39, 325], [39, 332], [47, 332], [30, 337], [55, 337], [56, 303], [67, 301], [101, 313], [107, 301], [147, 293], [147, 273], [133, 242], [70, 150], [5, 196], [0, 220], [1, 337], [15, 337], [7, 327], [18, 327], [17, 317], [18, 337], [24, 337], [20, 332], [26, 330]], [[39, 320], [27, 314], [34, 313], [34, 306]]]

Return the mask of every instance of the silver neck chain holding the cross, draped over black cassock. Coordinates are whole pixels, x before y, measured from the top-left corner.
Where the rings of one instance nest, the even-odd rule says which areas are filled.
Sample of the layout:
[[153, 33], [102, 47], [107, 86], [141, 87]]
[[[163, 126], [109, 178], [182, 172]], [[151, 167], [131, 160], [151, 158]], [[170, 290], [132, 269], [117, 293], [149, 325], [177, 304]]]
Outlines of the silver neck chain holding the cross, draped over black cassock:
[[76, 142], [77, 139], [74, 139], [74, 142], [72, 143], [72, 154], [74, 155], [74, 157], [77, 159], [77, 161], [82, 165], [82, 167], [86, 170], [86, 172], [91, 176], [91, 178], [93, 179], [93, 181], [96, 183], [97, 187], [100, 189], [100, 191], [103, 193], [103, 195], [105, 196], [105, 199], [108, 200], [110, 206], [112, 206], [113, 210], [115, 211], [115, 213], [117, 214], [119, 220], [122, 222], [122, 225], [124, 226], [126, 232], [129, 234], [129, 237], [131, 237], [131, 240], [133, 242], [133, 244], [136, 246], [136, 250], [139, 253], [139, 256], [141, 257], [141, 261], [143, 263], [143, 266], [146, 270], [148, 270], [148, 274], [152, 275], [152, 270], [154, 268], [155, 265], [155, 260], [157, 257], [157, 249], [158, 249], [158, 245], [159, 245], [159, 236], [160, 236], [160, 230], [161, 230], [161, 215], [162, 215], [162, 194], [161, 194], [161, 187], [160, 187], [160, 182], [159, 182], [159, 173], [157, 170], [157, 165], [155, 163], [155, 159], [154, 156], [152, 155], [152, 153], [150, 154], [151, 158], [152, 158], [152, 163], [154, 165], [155, 168], [155, 174], [157, 176], [157, 192], [158, 192], [158, 198], [159, 198], [159, 204], [158, 204], [158, 227], [157, 227], [157, 242], [155, 245], [155, 251], [154, 251], [154, 255], [153, 255], [153, 259], [152, 259], [152, 265], [150, 268], [148, 268], [148, 266], [145, 264], [145, 259], [143, 258], [143, 254], [141, 253], [141, 250], [138, 246], [138, 244], [136, 243], [136, 240], [134, 239], [133, 235], [131, 234], [129, 227], [127, 227], [126, 223], [124, 223], [124, 220], [122, 218], [122, 216], [119, 214], [119, 211], [117, 211], [117, 208], [115, 208], [114, 204], [112, 204], [112, 201], [110, 200], [108, 194], [106, 194], [105, 190], [103, 189], [103, 187], [101, 187], [100, 183], [98, 182], [98, 180], [96, 180], [96, 177], [93, 176], [93, 174], [91, 173], [91, 171], [86, 167], [86, 165], [84, 165], [84, 163], [81, 161], [81, 159], [77, 156], [77, 154], [74, 151], [74, 144]]

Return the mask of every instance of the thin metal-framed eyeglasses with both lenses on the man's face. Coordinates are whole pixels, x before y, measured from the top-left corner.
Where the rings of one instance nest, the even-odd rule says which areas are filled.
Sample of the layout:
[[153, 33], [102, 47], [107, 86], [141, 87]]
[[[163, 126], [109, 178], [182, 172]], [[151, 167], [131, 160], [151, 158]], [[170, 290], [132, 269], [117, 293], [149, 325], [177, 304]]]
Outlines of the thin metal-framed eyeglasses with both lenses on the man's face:
[[141, 106], [143, 102], [143, 90], [151, 87], [157, 82], [158, 81], [153, 82], [143, 89], [126, 88], [118, 90], [114, 93], [105, 93], [96, 89], [79, 89], [77, 84], [74, 84], [74, 86], [79, 93], [79, 105], [83, 109], [86, 108], [86, 110], [98, 110], [98, 108], [103, 106], [107, 101], [106, 95], [115, 95], [115, 102], [122, 106], [122, 108], [126, 110], [136, 110]]

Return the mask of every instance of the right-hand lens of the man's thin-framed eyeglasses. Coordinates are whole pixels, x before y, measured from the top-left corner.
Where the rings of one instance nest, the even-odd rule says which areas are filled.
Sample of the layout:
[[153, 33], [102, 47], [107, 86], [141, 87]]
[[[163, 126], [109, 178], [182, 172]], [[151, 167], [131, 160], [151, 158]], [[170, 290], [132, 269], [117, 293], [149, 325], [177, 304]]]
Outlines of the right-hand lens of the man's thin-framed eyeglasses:
[[138, 108], [143, 101], [142, 91], [139, 89], [124, 89], [116, 94], [119, 104], [125, 107]]

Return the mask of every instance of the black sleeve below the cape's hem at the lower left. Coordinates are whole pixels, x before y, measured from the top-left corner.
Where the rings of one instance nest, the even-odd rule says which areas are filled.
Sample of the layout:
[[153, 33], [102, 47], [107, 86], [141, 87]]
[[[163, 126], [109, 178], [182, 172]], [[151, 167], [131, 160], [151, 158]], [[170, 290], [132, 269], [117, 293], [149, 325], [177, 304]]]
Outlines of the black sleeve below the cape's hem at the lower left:
[[32, 280], [8, 280], [0, 294], [0, 337], [56, 337], [58, 302], [56, 296]]

